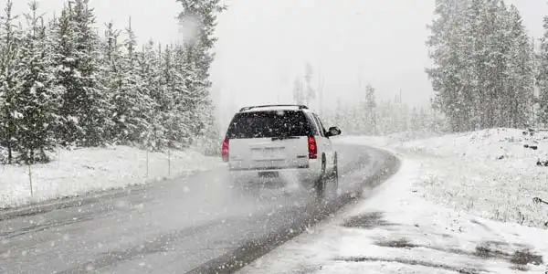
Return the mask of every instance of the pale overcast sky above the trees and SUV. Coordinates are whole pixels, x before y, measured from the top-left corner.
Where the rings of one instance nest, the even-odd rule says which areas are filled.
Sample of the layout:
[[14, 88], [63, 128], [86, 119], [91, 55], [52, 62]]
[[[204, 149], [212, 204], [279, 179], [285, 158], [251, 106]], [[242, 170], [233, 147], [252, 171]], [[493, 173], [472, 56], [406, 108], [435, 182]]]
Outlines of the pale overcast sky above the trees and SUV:
[[[64, 0], [40, 0], [47, 14]], [[26, 9], [16, 0], [16, 12]], [[548, 5], [541, 0], [506, 0], [522, 11], [530, 34], [543, 33]], [[5, 5], [5, 0], [0, 0]], [[426, 25], [434, 0], [227, 0], [219, 16], [216, 62], [212, 79], [216, 100], [223, 105], [290, 102], [294, 79], [310, 62], [325, 81], [325, 104], [359, 98], [362, 83], [378, 97], [393, 98], [402, 90], [409, 104], [427, 104], [431, 86]], [[174, 0], [91, 0], [98, 26], [113, 20], [132, 26], [142, 40], [169, 43], [181, 39]], [[314, 82], [318, 78], [313, 79]], [[230, 116], [230, 107], [221, 108]], [[227, 112], [228, 111], [228, 112]], [[226, 118], [225, 118], [226, 119]], [[224, 120], [225, 120], [224, 119]]]

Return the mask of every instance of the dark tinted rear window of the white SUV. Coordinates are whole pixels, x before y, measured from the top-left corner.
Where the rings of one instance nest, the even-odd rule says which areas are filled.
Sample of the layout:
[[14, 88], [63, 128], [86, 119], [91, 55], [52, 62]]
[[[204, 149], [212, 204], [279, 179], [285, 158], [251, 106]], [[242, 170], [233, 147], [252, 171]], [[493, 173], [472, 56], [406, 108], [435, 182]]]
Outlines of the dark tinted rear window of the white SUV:
[[227, 130], [227, 139], [309, 135], [311, 135], [311, 125], [302, 111], [237, 113]]

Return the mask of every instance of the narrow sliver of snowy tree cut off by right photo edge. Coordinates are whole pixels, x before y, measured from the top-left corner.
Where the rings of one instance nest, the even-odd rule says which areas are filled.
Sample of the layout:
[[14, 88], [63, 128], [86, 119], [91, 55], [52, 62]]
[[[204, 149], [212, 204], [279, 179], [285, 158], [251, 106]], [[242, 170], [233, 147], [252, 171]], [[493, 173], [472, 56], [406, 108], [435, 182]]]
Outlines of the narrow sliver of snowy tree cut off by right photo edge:
[[544, 126], [548, 125], [548, 16], [543, 18], [543, 37], [540, 38], [540, 51], [538, 53], [538, 72], [536, 75], [539, 88], [538, 117]]

